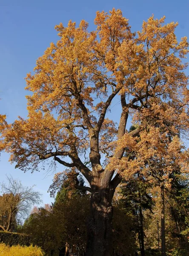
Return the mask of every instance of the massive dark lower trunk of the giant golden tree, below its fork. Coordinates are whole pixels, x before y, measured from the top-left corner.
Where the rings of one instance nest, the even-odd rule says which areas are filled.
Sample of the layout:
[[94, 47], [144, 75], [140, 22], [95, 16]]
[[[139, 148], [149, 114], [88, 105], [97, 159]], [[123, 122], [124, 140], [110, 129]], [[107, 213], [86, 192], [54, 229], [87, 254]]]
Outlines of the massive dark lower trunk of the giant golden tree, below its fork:
[[[96, 187], [97, 188], [97, 187]], [[91, 194], [86, 256], [112, 256], [112, 196], [109, 189]]]

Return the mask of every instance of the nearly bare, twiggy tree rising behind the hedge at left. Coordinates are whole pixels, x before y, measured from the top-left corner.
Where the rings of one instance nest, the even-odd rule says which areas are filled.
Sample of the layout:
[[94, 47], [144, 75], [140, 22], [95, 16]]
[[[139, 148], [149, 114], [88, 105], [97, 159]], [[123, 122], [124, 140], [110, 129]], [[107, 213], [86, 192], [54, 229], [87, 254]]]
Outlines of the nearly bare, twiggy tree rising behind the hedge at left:
[[23, 186], [20, 180], [8, 177], [8, 184], [1, 183], [3, 195], [0, 196], [0, 227], [9, 231], [15, 225], [16, 216], [29, 214], [31, 205], [41, 202], [41, 194], [33, 187]]

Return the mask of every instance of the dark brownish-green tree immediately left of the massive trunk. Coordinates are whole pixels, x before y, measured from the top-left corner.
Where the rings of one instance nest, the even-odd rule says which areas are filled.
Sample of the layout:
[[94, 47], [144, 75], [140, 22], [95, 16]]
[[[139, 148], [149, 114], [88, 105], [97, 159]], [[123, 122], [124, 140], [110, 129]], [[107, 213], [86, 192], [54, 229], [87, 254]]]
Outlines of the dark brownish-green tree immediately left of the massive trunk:
[[76, 247], [79, 255], [86, 251], [86, 223], [89, 217], [89, 195], [86, 191], [75, 188], [76, 179], [79, 185], [84, 185], [83, 177], [75, 171], [61, 172], [54, 175], [49, 191], [57, 195], [53, 204], [54, 214], [64, 216], [65, 245]]

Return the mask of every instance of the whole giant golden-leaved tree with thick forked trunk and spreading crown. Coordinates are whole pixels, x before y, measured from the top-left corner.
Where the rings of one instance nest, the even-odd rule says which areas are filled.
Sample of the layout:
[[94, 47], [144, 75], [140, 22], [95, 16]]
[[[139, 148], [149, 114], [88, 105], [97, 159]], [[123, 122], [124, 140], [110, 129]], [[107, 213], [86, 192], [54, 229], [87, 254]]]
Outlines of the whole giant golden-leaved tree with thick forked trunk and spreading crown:
[[[2, 131], [1, 148], [11, 153], [16, 167], [33, 171], [51, 159], [86, 178], [89, 186], [80, 186], [91, 192], [86, 256], [112, 254], [112, 198], [128, 159], [122, 144], [141, 130], [126, 131], [129, 111], [150, 111], [170, 101], [180, 120], [186, 119], [187, 65], [181, 58], [188, 43], [186, 37], [178, 43], [178, 24], [163, 25], [164, 20], [150, 17], [137, 36], [115, 9], [109, 15], [97, 12], [93, 32], [84, 20], [79, 27], [60, 23], [55, 27], [60, 40], [26, 77], [26, 89], [33, 93], [27, 96], [28, 119], [20, 117]], [[108, 118], [117, 98], [118, 127]]]

